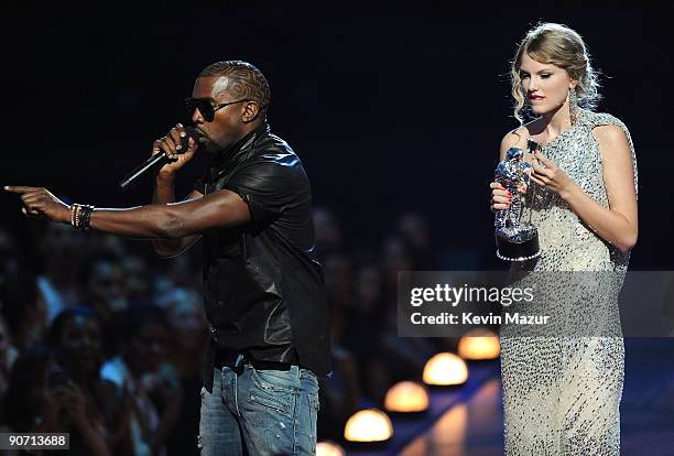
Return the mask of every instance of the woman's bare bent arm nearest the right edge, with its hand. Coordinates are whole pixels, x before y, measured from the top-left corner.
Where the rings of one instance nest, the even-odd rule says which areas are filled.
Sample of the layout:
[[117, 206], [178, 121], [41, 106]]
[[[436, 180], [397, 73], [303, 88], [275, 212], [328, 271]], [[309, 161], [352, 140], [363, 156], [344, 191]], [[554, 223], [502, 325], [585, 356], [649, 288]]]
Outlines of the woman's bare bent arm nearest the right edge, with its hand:
[[570, 177], [543, 154], [534, 163], [532, 180], [559, 197], [599, 237], [628, 252], [637, 243], [639, 224], [632, 152], [627, 135], [615, 124], [595, 129], [604, 166], [604, 183], [609, 200], [606, 208], [587, 195]]

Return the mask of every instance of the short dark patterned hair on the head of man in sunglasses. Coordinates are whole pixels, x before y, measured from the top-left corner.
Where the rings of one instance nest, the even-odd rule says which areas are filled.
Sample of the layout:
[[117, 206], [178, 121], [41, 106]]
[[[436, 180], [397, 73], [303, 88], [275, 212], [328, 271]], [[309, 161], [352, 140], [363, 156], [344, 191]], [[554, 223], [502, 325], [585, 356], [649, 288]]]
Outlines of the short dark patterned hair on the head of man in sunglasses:
[[242, 61], [222, 61], [208, 65], [198, 77], [227, 76], [230, 85], [227, 91], [235, 98], [254, 100], [262, 110], [271, 101], [271, 90], [267, 78], [254, 65]]

